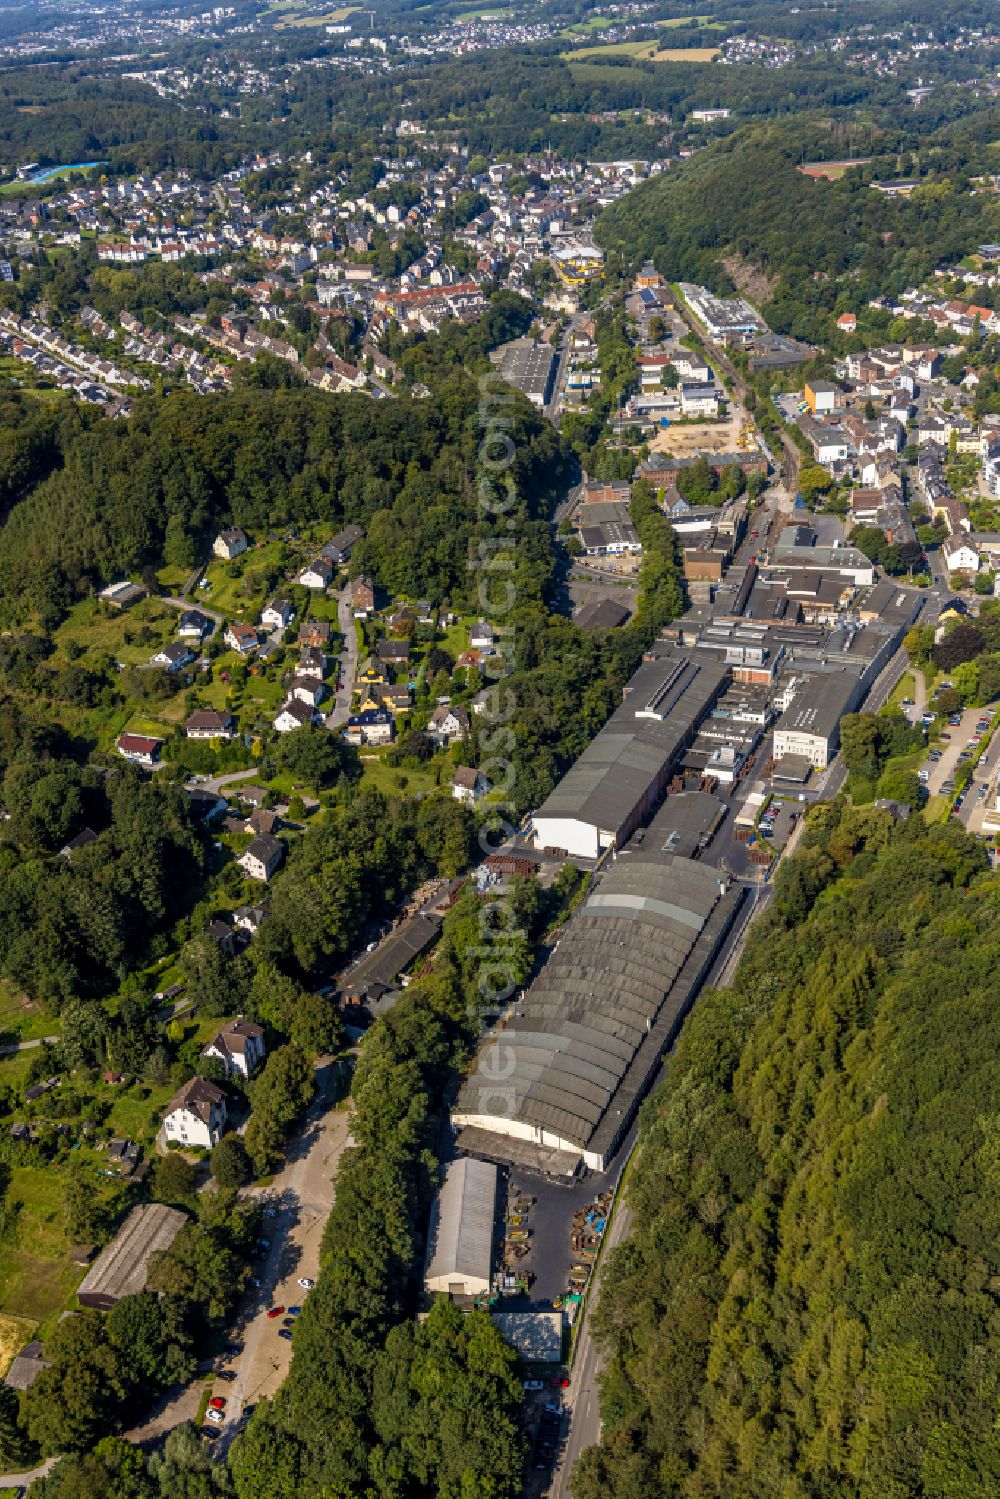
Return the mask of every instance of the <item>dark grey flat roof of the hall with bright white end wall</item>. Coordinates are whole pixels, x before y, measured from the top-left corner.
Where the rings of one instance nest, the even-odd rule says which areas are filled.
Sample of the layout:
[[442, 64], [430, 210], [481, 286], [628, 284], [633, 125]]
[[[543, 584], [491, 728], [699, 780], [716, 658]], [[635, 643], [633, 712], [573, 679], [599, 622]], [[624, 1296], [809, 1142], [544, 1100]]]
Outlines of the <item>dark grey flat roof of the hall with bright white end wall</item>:
[[729, 676], [726, 663], [663, 652], [643, 663], [625, 702], [535, 814], [576, 818], [618, 835], [676, 758]]

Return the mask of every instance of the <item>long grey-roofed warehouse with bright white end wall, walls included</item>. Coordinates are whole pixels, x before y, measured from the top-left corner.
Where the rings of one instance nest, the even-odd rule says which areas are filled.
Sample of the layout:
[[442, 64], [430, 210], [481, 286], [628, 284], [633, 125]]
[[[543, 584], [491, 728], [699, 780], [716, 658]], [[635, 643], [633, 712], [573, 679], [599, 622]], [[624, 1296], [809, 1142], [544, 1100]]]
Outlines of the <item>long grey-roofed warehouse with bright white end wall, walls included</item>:
[[646, 820], [697, 726], [729, 681], [729, 666], [657, 642], [622, 705], [535, 812], [535, 842], [598, 859]]

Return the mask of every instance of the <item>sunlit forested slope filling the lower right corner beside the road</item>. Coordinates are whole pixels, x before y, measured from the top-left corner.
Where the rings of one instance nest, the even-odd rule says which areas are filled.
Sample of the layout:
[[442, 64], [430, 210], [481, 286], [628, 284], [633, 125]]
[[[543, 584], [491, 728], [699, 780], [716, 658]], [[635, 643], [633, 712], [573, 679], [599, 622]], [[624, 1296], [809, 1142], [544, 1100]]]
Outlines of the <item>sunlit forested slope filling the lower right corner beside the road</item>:
[[817, 809], [645, 1114], [574, 1499], [1000, 1492], [1000, 881]]

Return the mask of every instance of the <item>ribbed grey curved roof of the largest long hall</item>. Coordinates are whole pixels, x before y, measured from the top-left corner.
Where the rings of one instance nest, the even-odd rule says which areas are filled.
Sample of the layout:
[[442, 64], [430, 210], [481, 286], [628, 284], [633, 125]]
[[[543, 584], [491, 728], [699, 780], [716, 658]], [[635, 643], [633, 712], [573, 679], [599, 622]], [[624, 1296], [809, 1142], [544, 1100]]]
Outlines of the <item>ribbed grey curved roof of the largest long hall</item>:
[[717, 869], [652, 838], [631, 844], [483, 1048], [456, 1115], [501, 1115], [585, 1148], [721, 893]]

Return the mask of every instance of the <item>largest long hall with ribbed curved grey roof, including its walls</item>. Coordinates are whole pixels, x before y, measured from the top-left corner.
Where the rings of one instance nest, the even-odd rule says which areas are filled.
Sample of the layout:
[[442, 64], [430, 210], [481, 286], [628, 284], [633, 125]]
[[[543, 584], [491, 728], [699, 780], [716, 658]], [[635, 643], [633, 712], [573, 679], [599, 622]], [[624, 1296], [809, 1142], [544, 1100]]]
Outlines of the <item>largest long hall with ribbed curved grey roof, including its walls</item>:
[[480, 1052], [459, 1148], [550, 1175], [610, 1162], [742, 899], [682, 845], [658, 817], [601, 875]]

